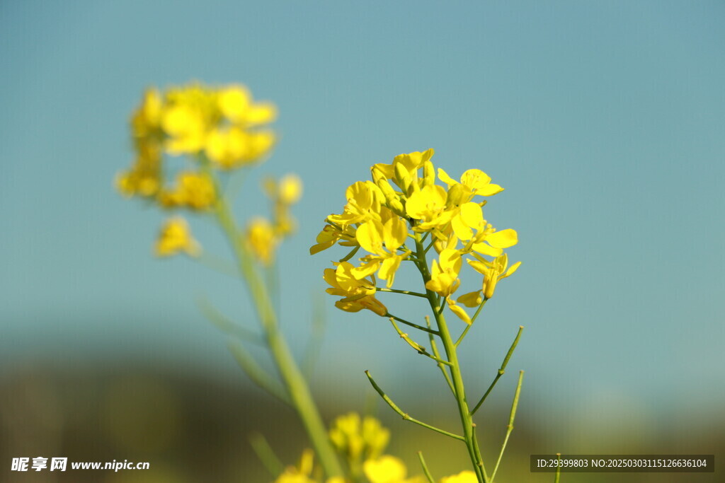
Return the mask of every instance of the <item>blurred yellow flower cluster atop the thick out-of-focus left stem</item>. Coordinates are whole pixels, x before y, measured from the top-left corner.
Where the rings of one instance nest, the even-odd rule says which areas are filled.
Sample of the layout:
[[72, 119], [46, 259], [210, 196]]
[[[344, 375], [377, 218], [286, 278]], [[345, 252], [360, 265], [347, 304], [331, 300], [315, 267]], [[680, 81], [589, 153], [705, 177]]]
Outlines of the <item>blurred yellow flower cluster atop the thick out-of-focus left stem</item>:
[[[162, 209], [210, 212], [217, 206], [218, 172], [247, 167], [268, 156], [276, 136], [266, 127], [276, 119], [269, 102], [253, 101], [243, 85], [219, 88], [191, 83], [159, 91], [149, 88], [130, 119], [136, 157], [116, 179], [125, 196], [144, 198]], [[184, 156], [185, 167], [170, 168]], [[242, 235], [249, 251], [270, 264], [277, 245], [294, 231], [289, 207], [302, 196], [299, 177], [268, 179], [263, 188], [273, 203], [273, 219], [254, 218]], [[181, 217], [167, 219], [156, 245], [159, 256], [201, 253]]]

